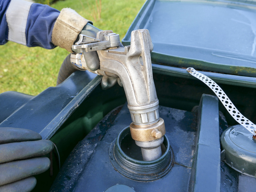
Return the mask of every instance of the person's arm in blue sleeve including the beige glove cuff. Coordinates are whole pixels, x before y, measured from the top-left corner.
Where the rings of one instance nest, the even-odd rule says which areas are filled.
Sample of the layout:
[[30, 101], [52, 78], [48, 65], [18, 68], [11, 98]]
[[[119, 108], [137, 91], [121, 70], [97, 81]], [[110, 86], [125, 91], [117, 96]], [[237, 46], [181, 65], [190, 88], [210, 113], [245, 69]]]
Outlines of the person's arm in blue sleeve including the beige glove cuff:
[[72, 9], [58, 11], [23, 0], [0, 0], [0, 18], [0, 45], [13, 41], [45, 49], [60, 46], [69, 52], [77, 35], [90, 22]]

